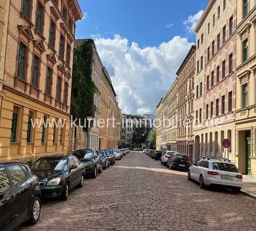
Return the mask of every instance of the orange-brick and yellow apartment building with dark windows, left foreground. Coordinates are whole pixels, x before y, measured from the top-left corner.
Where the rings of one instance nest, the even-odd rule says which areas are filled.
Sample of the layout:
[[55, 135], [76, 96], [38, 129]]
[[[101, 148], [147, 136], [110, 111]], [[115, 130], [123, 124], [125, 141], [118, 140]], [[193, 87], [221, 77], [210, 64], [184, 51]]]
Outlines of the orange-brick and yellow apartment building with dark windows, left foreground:
[[[76, 21], [82, 18], [79, 4], [2, 2], [0, 161], [67, 153], [73, 45]], [[36, 119], [65, 124], [34, 127]]]

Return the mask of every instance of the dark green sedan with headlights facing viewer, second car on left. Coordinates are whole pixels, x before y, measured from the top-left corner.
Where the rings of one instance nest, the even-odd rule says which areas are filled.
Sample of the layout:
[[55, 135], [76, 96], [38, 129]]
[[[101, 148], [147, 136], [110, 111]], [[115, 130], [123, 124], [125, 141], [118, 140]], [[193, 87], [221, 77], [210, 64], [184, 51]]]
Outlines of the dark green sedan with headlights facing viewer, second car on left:
[[84, 165], [75, 156], [41, 157], [31, 170], [39, 179], [43, 198], [67, 200], [69, 190], [84, 186]]

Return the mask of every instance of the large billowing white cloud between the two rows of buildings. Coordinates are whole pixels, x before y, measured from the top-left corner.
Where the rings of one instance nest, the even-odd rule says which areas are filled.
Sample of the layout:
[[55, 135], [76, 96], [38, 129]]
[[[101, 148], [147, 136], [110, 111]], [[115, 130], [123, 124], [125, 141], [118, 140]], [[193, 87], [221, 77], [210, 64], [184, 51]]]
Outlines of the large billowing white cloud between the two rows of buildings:
[[123, 113], [155, 114], [156, 105], [176, 78], [176, 71], [191, 48], [175, 36], [159, 47], [141, 48], [125, 37], [96, 36], [101, 60], [109, 71]]

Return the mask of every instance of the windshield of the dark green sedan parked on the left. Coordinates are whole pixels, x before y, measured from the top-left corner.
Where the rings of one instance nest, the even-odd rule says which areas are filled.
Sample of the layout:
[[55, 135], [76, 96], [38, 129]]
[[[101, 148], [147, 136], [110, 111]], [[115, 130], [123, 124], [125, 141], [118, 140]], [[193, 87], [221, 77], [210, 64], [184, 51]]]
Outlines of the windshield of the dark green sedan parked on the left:
[[38, 159], [31, 167], [36, 171], [63, 171], [67, 168], [67, 159]]

